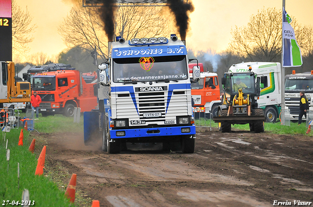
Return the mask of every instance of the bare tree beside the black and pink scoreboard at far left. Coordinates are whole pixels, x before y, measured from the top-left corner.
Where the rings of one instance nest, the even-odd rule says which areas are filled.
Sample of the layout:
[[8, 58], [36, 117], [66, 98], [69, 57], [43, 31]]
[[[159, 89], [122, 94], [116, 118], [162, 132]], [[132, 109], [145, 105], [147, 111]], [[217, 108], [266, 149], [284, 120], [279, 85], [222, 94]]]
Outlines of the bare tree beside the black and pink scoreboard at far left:
[[27, 44], [34, 39], [30, 33], [37, 28], [36, 24], [31, 24], [32, 19], [27, 7], [26, 11], [23, 11], [15, 0], [12, 0], [12, 51], [14, 55], [29, 51]]

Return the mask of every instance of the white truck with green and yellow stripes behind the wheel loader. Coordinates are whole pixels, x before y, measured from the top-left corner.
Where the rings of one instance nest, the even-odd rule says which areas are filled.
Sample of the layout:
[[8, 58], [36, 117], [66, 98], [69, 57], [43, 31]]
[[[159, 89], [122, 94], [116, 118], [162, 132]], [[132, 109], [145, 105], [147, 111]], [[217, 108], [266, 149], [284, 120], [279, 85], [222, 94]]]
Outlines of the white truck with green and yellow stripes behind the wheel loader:
[[279, 62], [243, 62], [232, 65], [228, 72], [248, 72], [249, 68], [261, 78], [261, 94], [257, 102], [264, 110], [266, 121], [274, 123], [281, 111], [281, 65]]

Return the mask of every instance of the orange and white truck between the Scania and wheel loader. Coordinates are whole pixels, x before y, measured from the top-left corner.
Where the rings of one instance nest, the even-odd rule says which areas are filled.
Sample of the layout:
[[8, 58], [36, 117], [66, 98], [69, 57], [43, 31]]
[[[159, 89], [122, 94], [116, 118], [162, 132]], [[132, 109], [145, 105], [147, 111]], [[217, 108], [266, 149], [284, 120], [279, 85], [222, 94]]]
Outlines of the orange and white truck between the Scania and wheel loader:
[[[191, 97], [194, 101], [195, 117], [199, 115], [207, 118], [217, 116], [218, 106], [221, 104], [220, 100], [220, 86], [216, 73], [204, 72], [203, 64], [200, 66], [200, 80], [191, 83]], [[188, 64], [189, 76], [192, 78], [192, 68], [197, 66], [197, 63]], [[212, 116], [211, 116], [212, 113]]]

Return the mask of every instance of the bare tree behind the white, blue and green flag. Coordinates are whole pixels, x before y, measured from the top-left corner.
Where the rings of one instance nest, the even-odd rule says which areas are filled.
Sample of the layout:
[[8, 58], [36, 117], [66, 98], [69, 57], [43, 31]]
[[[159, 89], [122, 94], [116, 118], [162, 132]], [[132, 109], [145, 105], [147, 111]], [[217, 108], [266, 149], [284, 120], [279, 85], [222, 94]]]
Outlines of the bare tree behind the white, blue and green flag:
[[[302, 27], [292, 18], [297, 42], [302, 49], [312, 47], [310, 28]], [[305, 34], [306, 33], [306, 34]], [[275, 8], [262, 9], [252, 15], [247, 26], [231, 30], [230, 48], [248, 61], [280, 61], [282, 43], [282, 11]], [[309, 37], [310, 36], [310, 37]], [[311, 39], [310, 39], [311, 38]]]

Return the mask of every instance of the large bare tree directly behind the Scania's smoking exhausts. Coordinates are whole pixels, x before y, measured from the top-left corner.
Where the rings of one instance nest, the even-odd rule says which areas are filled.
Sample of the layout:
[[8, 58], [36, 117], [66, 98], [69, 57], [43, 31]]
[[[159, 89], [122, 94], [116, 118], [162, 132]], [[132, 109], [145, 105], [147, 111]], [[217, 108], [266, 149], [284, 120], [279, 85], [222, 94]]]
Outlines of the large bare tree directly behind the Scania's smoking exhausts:
[[[160, 12], [157, 7], [119, 7], [115, 17], [115, 36], [130, 39], [170, 34], [166, 19]], [[58, 30], [69, 48], [79, 47], [91, 52], [96, 47], [98, 56], [104, 61], [108, 57], [108, 38], [103, 28], [96, 7], [77, 4]]]

